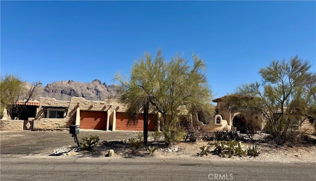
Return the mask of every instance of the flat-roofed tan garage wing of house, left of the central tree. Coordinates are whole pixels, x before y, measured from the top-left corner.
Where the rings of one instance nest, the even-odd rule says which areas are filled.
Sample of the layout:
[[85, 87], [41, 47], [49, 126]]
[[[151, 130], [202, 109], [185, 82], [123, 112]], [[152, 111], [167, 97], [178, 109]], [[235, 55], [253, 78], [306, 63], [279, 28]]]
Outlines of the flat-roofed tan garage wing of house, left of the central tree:
[[[34, 104], [29, 102], [29, 104]], [[143, 114], [139, 115], [137, 124], [128, 124], [124, 114], [126, 108], [116, 99], [104, 101], [85, 100], [82, 97], [72, 97], [70, 101], [60, 101], [55, 98], [40, 97], [32, 115], [25, 117], [32, 121], [33, 130], [69, 128], [79, 125], [80, 129], [104, 131], [143, 131]], [[24, 119], [24, 120], [25, 120]], [[25, 124], [25, 123], [24, 123]], [[1, 120], [0, 130], [21, 130], [22, 120]], [[151, 111], [148, 116], [148, 130], [159, 128], [158, 114]]]

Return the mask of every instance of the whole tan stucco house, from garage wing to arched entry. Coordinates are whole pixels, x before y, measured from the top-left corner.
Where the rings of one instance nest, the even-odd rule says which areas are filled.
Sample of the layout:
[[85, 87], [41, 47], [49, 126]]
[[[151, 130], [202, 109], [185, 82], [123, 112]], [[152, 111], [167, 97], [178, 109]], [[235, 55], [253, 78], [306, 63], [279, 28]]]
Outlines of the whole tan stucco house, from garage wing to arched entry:
[[[230, 96], [230, 95], [229, 95]], [[212, 100], [216, 103], [216, 114], [209, 124], [198, 121], [198, 116], [192, 121], [196, 125], [207, 130], [232, 130], [239, 129], [240, 112], [232, 112], [224, 97]], [[22, 102], [21, 102], [22, 104]], [[56, 100], [50, 97], [40, 97], [40, 101], [27, 103], [28, 110], [21, 114], [23, 120], [8, 120], [4, 116], [0, 120], [0, 130], [54, 130], [58, 128], [69, 128], [70, 125], [79, 125], [80, 129], [104, 130], [104, 131], [143, 131], [143, 114], [138, 117], [137, 124], [128, 123], [125, 115], [126, 107], [117, 99], [106, 99], [103, 101], [85, 100], [83, 97], [72, 97], [70, 101]], [[180, 114], [186, 114], [185, 108], [180, 108]], [[150, 110], [148, 116], [148, 130], [159, 130], [159, 114]], [[258, 130], [263, 130], [266, 121], [262, 114], [254, 113], [243, 115], [243, 118], [252, 121]], [[297, 129], [307, 133], [315, 132], [315, 127], [305, 120]]]

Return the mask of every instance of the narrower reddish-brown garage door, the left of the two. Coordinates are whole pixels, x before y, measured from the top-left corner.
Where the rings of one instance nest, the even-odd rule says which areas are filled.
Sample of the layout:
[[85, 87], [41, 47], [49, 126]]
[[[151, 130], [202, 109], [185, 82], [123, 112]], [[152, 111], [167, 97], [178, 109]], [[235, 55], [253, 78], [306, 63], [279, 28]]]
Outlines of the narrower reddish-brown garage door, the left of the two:
[[107, 112], [80, 111], [80, 129], [106, 130]]

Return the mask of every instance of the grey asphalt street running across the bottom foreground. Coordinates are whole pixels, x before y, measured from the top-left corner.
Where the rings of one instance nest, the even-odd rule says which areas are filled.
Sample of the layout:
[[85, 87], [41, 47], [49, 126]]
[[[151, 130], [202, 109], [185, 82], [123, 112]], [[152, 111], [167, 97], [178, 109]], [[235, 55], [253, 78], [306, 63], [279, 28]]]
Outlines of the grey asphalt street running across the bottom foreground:
[[315, 181], [315, 163], [117, 157], [1, 158], [1, 181]]

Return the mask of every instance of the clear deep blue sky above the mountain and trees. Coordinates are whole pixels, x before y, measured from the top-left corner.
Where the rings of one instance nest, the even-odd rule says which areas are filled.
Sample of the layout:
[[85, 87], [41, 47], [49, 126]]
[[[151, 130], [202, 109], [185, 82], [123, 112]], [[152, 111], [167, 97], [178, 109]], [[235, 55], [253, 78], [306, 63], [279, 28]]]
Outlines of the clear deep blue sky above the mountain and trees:
[[[316, 71], [316, 1], [0, 1], [1, 75], [108, 85], [145, 51], [206, 61], [215, 97], [298, 54]], [[190, 59], [191, 61], [191, 59]]]

